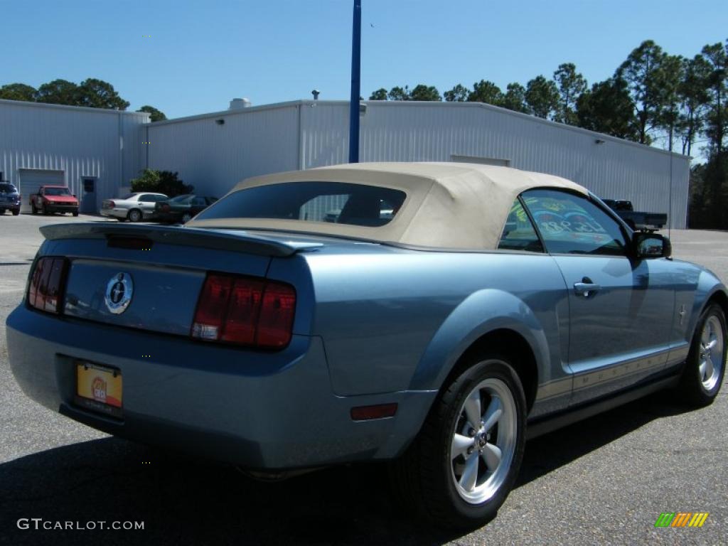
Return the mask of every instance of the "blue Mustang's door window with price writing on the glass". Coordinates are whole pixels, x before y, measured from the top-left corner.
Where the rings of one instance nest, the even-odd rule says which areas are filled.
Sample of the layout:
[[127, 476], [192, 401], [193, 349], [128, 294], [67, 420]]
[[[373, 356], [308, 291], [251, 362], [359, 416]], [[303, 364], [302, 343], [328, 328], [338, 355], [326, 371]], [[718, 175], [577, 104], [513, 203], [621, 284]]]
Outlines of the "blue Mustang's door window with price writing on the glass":
[[619, 224], [589, 199], [550, 189], [522, 197], [550, 253], [626, 256]]

